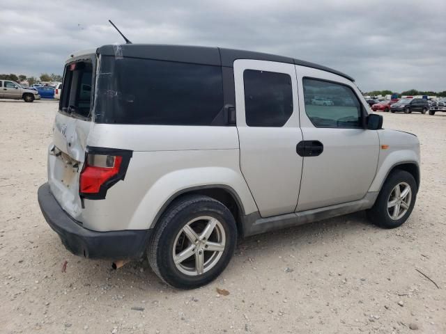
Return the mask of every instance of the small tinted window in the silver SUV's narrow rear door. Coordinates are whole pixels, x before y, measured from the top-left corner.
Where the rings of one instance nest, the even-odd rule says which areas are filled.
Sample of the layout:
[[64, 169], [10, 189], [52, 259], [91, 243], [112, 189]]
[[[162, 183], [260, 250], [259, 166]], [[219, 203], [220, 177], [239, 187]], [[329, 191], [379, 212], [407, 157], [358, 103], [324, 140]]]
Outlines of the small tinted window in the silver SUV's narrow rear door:
[[245, 70], [245, 118], [249, 127], [282, 127], [293, 113], [291, 77]]

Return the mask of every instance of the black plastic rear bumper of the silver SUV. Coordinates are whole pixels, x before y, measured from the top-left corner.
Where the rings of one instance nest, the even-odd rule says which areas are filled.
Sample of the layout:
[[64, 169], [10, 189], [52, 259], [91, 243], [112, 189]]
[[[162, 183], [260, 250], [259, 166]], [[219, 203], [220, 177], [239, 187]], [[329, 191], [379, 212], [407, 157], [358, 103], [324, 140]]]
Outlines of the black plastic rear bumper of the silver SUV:
[[38, 202], [48, 225], [71, 253], [111, 260], [139, 259], [144, 255], [152, 230], [97, 232], [83, 228], [63, 211], [47, 183], [38, 189]]

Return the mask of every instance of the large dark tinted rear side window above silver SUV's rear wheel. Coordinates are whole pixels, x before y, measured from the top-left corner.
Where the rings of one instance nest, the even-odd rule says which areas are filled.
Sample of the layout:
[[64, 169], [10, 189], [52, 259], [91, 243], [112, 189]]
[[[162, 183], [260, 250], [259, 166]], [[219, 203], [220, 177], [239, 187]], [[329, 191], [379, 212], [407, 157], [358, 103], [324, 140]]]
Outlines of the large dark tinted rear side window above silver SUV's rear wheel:
[[220, 66], [102, 56], [95, 122], [224, 125]]

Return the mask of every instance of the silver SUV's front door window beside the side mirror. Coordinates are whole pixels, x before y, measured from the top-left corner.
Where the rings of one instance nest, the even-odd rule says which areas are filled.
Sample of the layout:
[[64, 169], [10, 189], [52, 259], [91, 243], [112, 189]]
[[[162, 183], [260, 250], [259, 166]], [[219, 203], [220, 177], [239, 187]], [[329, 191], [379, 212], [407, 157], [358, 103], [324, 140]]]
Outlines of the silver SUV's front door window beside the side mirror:
[[360, 101], [343, 84], [303, 79], [305, 112], [315, 127], [362, 127]]

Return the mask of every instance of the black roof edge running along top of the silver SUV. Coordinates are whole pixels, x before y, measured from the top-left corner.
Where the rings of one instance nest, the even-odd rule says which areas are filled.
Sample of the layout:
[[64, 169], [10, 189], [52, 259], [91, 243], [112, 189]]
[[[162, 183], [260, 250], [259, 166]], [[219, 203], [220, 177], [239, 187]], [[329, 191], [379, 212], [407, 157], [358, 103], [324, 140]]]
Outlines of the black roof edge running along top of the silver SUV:
[[125, 56], [133, 58], [149, 58], [162, 61], [180, 61], [184, 63], [196, 63], [204, 65], [217, 65], [233, 67], [236, 59], [254, 59], [259, 61], [277, 61], [305, 67], [316, 68], [334, 73], [348, 80], [355, 81], [352, 77], [333, 70], [330, 67], [300, 61], [299, 59], [277, 56], [275, 54], [263, 54], [255, 51], [225, 49], [221, 47], [194, 47], [189, 45], [156, 45], [156, 44], [123, 44], [104, 45], [97, 50], [98, 54], [105, 56]]

